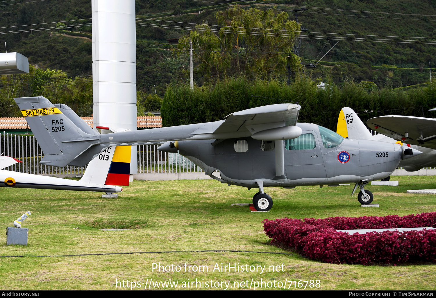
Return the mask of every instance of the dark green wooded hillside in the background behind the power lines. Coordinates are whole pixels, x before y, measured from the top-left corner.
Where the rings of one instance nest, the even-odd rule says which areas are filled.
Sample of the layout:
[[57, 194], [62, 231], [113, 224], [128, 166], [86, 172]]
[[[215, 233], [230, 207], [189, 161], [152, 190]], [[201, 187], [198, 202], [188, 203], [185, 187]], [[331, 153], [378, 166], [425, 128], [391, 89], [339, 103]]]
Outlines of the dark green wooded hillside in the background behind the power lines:
[[[283, 0], [240, 1], [238, 4], [245, 7], [287, 11], [291, 20], [294, 19], [291, 10], [299, 8], [302, 4], [310, 7], [299, 16], [302, 27], [308, 29], [308, 32], [303, 34], [306, 37], [303, 38], [300, 51], [303, 61], [313, 63], [311, 60], [319, 60], [336, 44], [337, 40], [341, 39], [323, 58], [323, 61], [337, 63], [332, 65], [324, 63], [324, 66], [321, 66], [321, 62], [316, 69], [307, 69], [306, 72], [313, 78], [320, 80], [330, 78], [337, 83], [354, 78], [356, 81], [374, 81], [379, 87], [391, 85], [401, 87], [429, 81], [428, 63], [436, 64], [434, 56], [436, 46], [433, 43], [433, 40], [436, 40], [435, 2], [434, 0], [401, 2]], [[176, 25], [201, 24], [205, 21], [208, 24], [216, 24], [214, 14], [228, 7], [224, 3], [228, 1], [214, 0], [207, 3], [194, 0], [137, 0], [136, 12], [137, 17], [140, 18], [180, 22]], [[65, 21], [64, 23], [70, 27], [67, 30], [90, 33], [90, 17], [90, 0], [44, 0], [0, 5], [2, 31], [4, 33], [20, 31], [1, 34], [0, 45], [7, 42], [8, 51], [25, 54], [31, 64], [37, 64], [41, 68], [61, 69], [72, 77], [89, 76], [92, 74], [91, 42], [81, 38], [66, 37], [58, 33], [55, 23], [46, 23]], [[141, 23], [162, 24], [156, 20], [142, 20]], [[192, 25], [184, 24], [184, 26]], [[136, 28], [138, 90], [152, 93], [156, 86], [156, 92], [161, 96], [171, 80], [187, 78], [187, 55], [170, 51], [170, 47], [164, 45], [167, 44], [166, 38], [181, 37], [189, 30], [166, 27], [137, 26]], [[45, 30], [47, 28], [49, 30]], [[344, 37], [355, 40], [343, 40]], [[358, 38], [372, 40], [363, 41]], [[384, 42], [381, 42], [382, 39]], [[389, 39], [393, 39], [393, 42], [388, 41]], [[390, 68], [374, 68], [384, 64]]]

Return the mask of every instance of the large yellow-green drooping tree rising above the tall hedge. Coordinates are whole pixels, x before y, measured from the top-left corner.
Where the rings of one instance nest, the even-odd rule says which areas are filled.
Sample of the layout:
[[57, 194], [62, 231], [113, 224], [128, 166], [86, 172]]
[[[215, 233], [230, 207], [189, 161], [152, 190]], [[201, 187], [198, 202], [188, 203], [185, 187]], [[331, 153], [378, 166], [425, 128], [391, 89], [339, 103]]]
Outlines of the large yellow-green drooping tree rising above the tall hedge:
[[186, 51], [192, 39], [198, 71], [207, 77], [241, 73], [249, 78], [272, 78], [286, 73], [288, 64], [301, 69], [299, 58], [289, 54], [301, 32], [300, 25], [288, 20], [286, 12], [235, 5], [218, 11], [215, 17], [219, 30], [209, 24], [197, 25], [178, 44]]

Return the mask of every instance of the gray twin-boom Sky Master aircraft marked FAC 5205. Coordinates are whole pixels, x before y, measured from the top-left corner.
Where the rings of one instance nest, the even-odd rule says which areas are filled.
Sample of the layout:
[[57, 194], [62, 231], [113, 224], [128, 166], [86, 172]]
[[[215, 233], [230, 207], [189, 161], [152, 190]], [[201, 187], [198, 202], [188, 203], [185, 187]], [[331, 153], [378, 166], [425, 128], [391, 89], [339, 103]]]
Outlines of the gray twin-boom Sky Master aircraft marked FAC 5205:
[[297, 123], [301, 107], [294, 104], [250, 108], [216, 122], [100, 134], [66, 105], [43, 96], [14, 99], [44, 152], [41, 164], [84, 166], [108, 146], [164, 143], [161, 151], [178, 151], [221, 183], [259, 188], [253, 197], [259, 211], [272, 207], [263, 191], [269, 186], [356, 183], [353, 193], [359, 186], [359, 202], [369, 204], [368, 182], [389, 176], [402, 159], [421, 153]]

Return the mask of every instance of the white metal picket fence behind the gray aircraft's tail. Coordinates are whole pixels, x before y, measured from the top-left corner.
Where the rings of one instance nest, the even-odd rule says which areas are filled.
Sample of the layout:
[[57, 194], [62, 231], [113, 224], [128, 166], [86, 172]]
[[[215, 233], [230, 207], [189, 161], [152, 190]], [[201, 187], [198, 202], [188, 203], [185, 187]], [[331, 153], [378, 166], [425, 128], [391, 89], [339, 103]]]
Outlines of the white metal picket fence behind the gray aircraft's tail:
[[[158, 151], [160, 145], [141, 145], [138, 148], [138, 173], [189, 173], [203, 172], [200, 167], [178, 153]], [[44, 153], [34, 136], [0, 133], [0, 150], [2, 156], [14, 157], [22, 163], [16, 163], [6, 169], [29, 174], [83, 174], [86, 166], [42, 165]]]

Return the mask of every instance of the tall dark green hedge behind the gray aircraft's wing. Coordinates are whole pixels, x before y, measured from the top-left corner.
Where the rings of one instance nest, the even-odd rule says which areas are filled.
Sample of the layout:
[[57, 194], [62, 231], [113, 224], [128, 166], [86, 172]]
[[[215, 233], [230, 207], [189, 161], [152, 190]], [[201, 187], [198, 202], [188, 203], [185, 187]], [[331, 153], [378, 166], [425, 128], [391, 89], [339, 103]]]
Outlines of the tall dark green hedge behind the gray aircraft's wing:
[[425, 87], [408, 91], [388, 88], [368, 91], [363, 84], [354, 81], [345, 82], [341, 88], [332, 82], [326, 84], [325, 89], [317, 88], [317, 83], [306, 76], [297, 77], [290, 86], [279, 81], [248, 81], [245, 78], [227, 78], [218, 81], [215, 86], [195, 87], [194, 91], [189, 85], [173, 84], [165, 92], [161, 107], [162, 123], [172, 126], [217, 121], [247, 108], [286, 103], [269, 98], [299, 102], [299, 122], [316, 123], [333, 130], [336, 130], [337, 117], [344, 106], [353, 108], [355, 112], [374, 110], [359, 115], [364, 122], [381, 115], [422, 117], [422, 110], [426, 117], [436, 117], [435, 112], [428, 111], [436, 106], [436, 84], [432, 89]]

